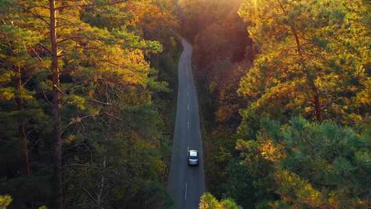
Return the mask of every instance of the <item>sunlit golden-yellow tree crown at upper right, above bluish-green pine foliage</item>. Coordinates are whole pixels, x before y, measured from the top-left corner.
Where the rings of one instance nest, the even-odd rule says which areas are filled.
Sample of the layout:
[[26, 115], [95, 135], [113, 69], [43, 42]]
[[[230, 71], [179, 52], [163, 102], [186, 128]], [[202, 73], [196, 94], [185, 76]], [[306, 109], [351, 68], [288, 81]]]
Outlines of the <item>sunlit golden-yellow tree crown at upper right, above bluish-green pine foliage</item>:
[[247, 109], [277, 120], [303, 115], [344, 124], [369, 109], [370, 36], [364, 1], [244, 1], [260, 50], [240, 81]]

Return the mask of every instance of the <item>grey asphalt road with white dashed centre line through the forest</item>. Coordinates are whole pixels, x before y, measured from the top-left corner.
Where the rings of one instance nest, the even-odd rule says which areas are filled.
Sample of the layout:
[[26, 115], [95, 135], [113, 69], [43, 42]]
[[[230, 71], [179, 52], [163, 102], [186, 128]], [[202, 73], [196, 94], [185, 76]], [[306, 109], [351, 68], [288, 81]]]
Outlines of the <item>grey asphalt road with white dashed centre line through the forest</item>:
[[[205, 190], [199, 104], [192, 75], [192, 45], [182, 40], [179, 59], [178, 103], [175, 135], [172, 143], [168, 192], [178, 209], [196, 209]], [[188, 166], [187, 151], [199, 151], [199, 165]]]

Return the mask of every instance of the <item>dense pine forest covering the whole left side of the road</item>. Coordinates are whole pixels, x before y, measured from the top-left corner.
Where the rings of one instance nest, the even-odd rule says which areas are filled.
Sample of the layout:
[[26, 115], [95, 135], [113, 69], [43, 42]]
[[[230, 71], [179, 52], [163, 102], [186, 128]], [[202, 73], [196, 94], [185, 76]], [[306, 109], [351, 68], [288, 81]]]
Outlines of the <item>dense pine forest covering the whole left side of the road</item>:
[[175, 2], [0, 1], [0, 208], [168, 208]]

